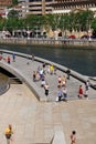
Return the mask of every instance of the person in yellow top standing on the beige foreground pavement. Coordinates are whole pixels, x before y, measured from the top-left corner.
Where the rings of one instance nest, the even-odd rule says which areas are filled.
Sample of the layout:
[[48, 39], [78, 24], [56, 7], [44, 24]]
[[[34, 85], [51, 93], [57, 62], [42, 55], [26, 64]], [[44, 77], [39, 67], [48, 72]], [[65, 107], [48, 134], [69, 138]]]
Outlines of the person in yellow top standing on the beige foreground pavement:
[[4, 135], [7, 138], [7, 144], [10, 144], [11, 137], [12, 137], [13, 131], [12, 131], [12, 125], [9, 124], [9, 126], [4, 131]]

